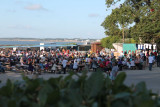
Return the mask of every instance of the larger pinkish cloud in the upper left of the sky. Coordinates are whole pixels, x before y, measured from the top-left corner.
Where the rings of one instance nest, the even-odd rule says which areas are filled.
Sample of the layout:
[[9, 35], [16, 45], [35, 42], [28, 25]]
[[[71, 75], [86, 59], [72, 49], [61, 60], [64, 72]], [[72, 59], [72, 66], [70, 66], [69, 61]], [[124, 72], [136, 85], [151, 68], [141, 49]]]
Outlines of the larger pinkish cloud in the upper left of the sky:
[[44, 10], [44, 11], [48, 11], [46, 8], [44, 8], [40, 4], [34, 4], [34, 5], [26, 6], [25, 9], [27, 9], [27, 10]]

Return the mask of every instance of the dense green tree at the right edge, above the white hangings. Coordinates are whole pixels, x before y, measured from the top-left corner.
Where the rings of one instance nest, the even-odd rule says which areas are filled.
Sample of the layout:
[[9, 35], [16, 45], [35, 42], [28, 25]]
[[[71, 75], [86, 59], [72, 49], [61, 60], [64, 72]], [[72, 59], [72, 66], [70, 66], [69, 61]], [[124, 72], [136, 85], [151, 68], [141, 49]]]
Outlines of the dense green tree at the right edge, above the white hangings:
[[139, 21], [131, 28], [131, 35], [135, 39], [137, 39], [137, 37], [141, 38], [143, 43], [157, 43], [159, 50], [160, 1], [141, 0], [140, 3]]

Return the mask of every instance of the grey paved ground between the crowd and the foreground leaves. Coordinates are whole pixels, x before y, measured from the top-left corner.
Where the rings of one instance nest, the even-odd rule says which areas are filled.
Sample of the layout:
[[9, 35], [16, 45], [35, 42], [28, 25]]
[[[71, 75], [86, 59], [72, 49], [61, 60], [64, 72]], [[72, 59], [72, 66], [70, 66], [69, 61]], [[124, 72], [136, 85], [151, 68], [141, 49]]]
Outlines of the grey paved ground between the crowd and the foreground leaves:
[[[126, 72], [127, 78], [125, 80], [125, 84], [131, 86], [132, 84], [137, 84], [141, 81], [145, 81], [147, 88], [152, 89], [153, 92], [160, 93], [160, 68], [154, 67], [152, 71], [149, 71], [148, 68], [146, 70], [125, 70], [121, 72]], [[90, 75], [89, 73], [88, 75]], [[39, 77], [44, 79], [48, 79], [51, 77], [58, 77], [64, 74], [43, 74]], [[66, 76], [67, 74], [65, 74]], [[33, 78], [33, 75], [29, 75], [30, 78]], [[22, 76], [20, 73], [7, 72], [5, 74], [0, 74], [0, 87], [3, 86], [7, 79], [11, 79], [12, 81], [22, 80]]]

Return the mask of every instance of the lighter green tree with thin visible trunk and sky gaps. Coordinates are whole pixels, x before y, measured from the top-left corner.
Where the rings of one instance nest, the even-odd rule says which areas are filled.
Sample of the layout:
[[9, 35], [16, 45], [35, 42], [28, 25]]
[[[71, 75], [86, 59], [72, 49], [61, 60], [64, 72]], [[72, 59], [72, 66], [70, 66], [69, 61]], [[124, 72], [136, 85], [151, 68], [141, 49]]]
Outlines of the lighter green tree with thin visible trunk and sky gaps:
[[133, 21], [130, 18], [130, 7], [121, 5], [120, 8], [112, 10], [112, 13], [106, 17], [102, 23], [105, 34], [108, 36], [123, 36], [123, 43], [125, 37], [125, 29]]

